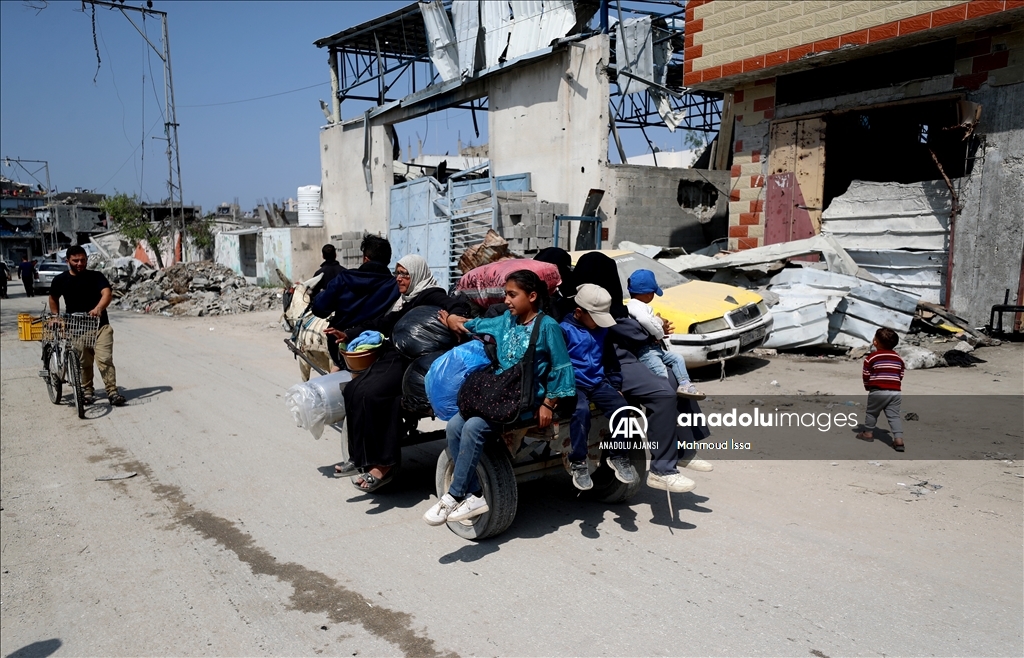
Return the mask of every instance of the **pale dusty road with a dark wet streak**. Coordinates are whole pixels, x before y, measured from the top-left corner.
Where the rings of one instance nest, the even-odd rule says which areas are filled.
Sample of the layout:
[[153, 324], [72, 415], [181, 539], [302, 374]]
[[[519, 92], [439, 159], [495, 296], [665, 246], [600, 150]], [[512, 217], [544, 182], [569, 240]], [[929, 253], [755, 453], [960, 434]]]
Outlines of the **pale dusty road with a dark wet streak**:
[[[16, 313], [40, 300], [11, 292], [5, 656], [1024, 655], [1020, 462], [881, 444], [865, 459], [719, 462], [691, 474], [674, 517], [664, 492], [604, 506], [549, 478], [522, 485], [508, 532], [471, 543], [420, 518], [440, 443], [407, 449], [387, 493], [328, 477], [338, 434], [293, 427], [282, 398], [298, 367], [275, 313], [112, 313], [129, 404], [79, 421], [47, 400], [39, 344], [17, 341]], [[1021, 346], [980, 355], [907, 387], [1024, 393]], [[729, 372], [701, 387], [863, 395], [857, 362]], [[941, 489], [897, 484], [922, 481]]]

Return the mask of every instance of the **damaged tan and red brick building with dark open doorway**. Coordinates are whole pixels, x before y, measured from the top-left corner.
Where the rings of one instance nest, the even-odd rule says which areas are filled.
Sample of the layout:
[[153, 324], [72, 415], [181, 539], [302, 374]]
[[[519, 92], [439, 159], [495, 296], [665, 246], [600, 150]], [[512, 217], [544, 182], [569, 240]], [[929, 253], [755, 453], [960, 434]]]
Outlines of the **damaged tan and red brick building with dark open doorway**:
[[685, 45], [724, 94], [730, 249], [824, 231], [972, 326], [1021, 303], [1024, 3], [690, 0]]

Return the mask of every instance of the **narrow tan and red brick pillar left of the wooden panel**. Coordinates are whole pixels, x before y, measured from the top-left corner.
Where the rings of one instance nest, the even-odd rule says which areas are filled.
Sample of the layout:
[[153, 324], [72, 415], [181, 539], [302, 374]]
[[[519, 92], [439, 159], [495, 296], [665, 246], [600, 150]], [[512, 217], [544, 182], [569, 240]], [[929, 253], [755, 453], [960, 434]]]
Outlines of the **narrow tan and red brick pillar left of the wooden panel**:
[[769, 126], [775, 117], [775, 79], [737, 88], [733, 111], [729, 249], [753, 249], [764, 245], [764, 173]]

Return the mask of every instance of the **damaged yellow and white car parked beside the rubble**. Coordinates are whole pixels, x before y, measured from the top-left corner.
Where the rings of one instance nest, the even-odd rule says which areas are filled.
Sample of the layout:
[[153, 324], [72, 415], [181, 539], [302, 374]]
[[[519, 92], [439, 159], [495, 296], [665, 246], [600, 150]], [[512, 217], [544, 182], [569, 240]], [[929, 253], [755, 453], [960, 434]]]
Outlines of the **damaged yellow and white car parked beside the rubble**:
[[[587, 252], [571, 252], [572, 264]], [[638, 269], [654, 272], [665, 292], [650, 303], [654, 312], [674, 324], [669, 347], [687, 367], [718, 363], [761, 347], [771, 335], [771, 311], [752, 291], [689, 278], [636, 252], [602, 250], [618, 268], [623, 292]]]

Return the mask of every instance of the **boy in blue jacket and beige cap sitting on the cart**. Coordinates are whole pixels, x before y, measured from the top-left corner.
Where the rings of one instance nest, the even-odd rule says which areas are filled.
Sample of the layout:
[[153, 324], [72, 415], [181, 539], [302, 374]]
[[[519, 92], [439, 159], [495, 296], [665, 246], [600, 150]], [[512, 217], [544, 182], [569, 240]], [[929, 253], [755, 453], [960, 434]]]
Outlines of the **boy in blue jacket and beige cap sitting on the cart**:
[[[569, 441], [572, 446], [569, 452], [569, 471], [572, 474], [572, 484], [578, 489], [587, 490], [594, 486], [587, 465], [590, 403], [593, 402], [608, 418], [617, 409], [628, 406], [628, 403], [623, 394], [612, 387], [602, 365], [604, 339], [608, 327], [615, 324], [608, 312], [611, 308], [611, 296], [599, 286], [584, 283], [577, 289], [575, 306], [572, 314], [561, 321], [577, 385], [577, 407], [569, 422]], [[625, 448], [609, 450], [606, 462], [620, 482], [628, 484], [638, 477], [636, 469], [630, 464], [629, 450]]]

